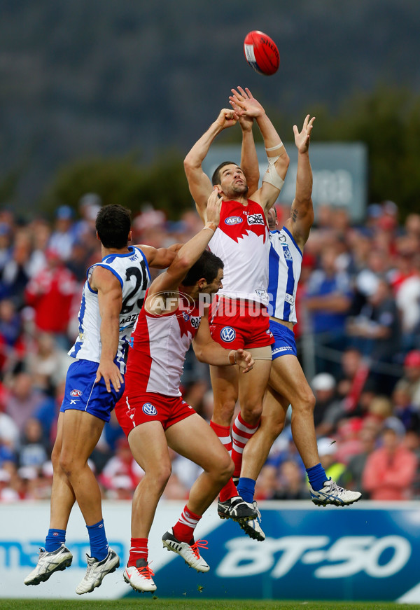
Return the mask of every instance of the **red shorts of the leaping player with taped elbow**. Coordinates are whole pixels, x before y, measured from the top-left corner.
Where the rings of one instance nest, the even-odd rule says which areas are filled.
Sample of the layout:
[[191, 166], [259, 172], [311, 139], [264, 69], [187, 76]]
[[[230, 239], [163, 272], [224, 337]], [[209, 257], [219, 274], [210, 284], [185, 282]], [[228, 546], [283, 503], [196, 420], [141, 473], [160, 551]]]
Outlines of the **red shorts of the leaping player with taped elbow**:
[[216, 298], [211, 306], [210, 333], [226, 349], [250, 349], [274, 343], [267, 307], [244, 299]]

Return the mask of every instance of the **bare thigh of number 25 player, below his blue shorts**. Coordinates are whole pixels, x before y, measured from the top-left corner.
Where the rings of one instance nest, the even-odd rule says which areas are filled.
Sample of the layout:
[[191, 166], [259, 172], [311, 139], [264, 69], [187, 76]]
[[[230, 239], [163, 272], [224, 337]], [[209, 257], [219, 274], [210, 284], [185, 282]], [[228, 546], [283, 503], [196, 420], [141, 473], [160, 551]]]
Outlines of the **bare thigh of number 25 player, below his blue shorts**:
[[62, 456], [87, 462], [102, 434], [104, 420], [76, 409], [67, 409], [62, 415]]

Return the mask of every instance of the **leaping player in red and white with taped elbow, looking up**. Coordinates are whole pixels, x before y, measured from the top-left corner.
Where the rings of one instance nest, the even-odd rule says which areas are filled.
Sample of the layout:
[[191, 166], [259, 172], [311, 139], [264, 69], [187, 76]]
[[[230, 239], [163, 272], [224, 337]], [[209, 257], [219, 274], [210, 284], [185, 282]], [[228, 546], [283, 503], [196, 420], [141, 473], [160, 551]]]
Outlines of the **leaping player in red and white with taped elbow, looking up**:
[[[225, 263], [223, 290], [216, 298], [211, 316], [211, 336], [223, 347], [248, 349], [255, 365], [249, 375], [238, 375], [234, 368], [211, 367], [214, 391], [214, 413], [211, 426], [221, 441], [232, 450], [235, 476], [241, 471], [244, 446], [258, 429], [262, 412], [262, 398], [269, 379], [274, 341], [269, 331], [266, 305], [268, 284], [269, 232], [265, 213], [274, 205], [288, 169], [289, 158], [274, 125], [251, 91], [232, 89], [232, 109], [223, 109], [207, 132], [191, 148], [184, 161], [190, 193], [204, 223], [207, 221], [207, 198], [211, 182], [220, 193], [223, 203], [221, 222], [209, 248]], [[257, 123], [265, 144], [268, 168], [258, 188], [258, 176], [248, 175], [235, 162], [219, 165], [212, 181], [204, 174], [202, 162], [215, 137], [239, 121], [242, 129], [241, 164], [258, 168], [252, 127]], [[251, 143], [251, 146], [247, 146]], [[246, 155], [253, 155], [247, 158]], [[257, 172], [258, 174], [258, 172]], [[248, 186], [253, 193], [248, 199]], [[230, 424], [239, 398], [241, 412], [232, 429]], [[237, 497], [232, 480], [223, 488], [218, 503], [221, 518], [255, 518], [252, 504], [244, 506]], [[251, 516], [250, 516], [251, 515]]]

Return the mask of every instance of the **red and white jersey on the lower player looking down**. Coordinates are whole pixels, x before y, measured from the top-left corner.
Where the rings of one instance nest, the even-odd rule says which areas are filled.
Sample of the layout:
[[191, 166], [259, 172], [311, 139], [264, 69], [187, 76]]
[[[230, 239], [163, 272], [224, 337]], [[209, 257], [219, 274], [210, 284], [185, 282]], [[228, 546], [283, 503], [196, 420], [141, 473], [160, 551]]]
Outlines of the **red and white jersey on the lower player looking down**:
[[198, 307], [182, 300], [181, 305], [172, 314], [149, 314], [145, 307], [141, 310], [127, 361], [126, 391], [130, 396], [145, 392], [181, 396], [183, 364], [201, 321]]

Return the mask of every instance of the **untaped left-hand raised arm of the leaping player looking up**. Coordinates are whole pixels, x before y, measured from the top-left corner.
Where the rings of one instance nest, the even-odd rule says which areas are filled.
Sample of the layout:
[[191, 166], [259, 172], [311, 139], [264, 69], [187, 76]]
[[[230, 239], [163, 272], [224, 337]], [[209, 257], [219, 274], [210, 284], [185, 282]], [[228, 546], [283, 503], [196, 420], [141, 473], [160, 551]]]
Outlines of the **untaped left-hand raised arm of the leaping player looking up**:
[[207, 221], [207, 200], [211, 194], [212, 186], [209, 176], [204, 174], [202, 162], [206, 158], [211, 143], [215, 137], [227, 127], [237, 123], [238, 116], [232, 109], [224, 108], [220, 111], [218, 118], [211, 123], [207, 132], [194, 144], [184, 160], [184, 169], [188, 180], [190, 193], [193, 195], [197, 212], [204, 223]]

